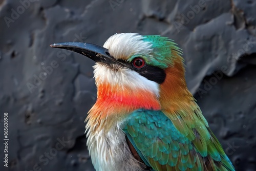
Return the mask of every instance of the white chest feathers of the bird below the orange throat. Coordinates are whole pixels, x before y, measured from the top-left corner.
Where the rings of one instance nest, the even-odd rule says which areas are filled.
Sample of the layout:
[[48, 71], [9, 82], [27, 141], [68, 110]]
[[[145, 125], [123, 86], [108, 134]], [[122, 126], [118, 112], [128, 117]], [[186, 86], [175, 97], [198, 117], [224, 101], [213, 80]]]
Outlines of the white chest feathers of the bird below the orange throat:
[[87, 146], [97, 171], [144, 170], [143, 165], [132, 156], [125, 134], [118, 126], [108, 133], [92, 131], [93, 129], [93, 127], [87, 127]]

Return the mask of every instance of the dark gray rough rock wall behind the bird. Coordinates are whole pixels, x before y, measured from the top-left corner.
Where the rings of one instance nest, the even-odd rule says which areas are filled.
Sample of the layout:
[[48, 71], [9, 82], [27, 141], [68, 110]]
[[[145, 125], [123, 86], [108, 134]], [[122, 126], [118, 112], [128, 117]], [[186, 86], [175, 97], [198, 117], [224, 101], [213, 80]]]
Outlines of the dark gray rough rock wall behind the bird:
[[94, 62], [49, 45], [103, 45], [117, 32], [174, 39], [212, 131], [237, 170], [256, 170], [255, 0], [0, 0], [0, 17], [1, 130], [9, 114], [0, 170], [94, 170], [83, 122], [96, 100]]

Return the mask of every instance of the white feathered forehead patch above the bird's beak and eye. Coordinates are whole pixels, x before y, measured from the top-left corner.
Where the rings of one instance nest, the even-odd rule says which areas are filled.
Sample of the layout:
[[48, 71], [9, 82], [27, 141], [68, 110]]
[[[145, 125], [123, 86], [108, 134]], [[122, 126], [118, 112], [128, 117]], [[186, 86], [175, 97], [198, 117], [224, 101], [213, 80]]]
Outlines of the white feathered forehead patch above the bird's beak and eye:
[[127, 59], [132, 55], [148, 54], [152, 51], [152, 43], [143, 40], [137, 33], [117, 33], [106, 40], [104, 48], [116, 59]]

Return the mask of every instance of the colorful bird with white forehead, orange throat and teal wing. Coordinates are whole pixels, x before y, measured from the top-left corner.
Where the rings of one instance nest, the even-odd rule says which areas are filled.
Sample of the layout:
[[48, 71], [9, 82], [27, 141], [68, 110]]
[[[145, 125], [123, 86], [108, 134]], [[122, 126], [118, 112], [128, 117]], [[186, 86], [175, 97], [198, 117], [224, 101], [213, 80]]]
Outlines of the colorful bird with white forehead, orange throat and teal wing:
[[62, 42], [95, 61], [86, 118], [97, 171], [234, 170], [185, 81], [183, 52], [160, 35], [116, 33], [103, 47]]

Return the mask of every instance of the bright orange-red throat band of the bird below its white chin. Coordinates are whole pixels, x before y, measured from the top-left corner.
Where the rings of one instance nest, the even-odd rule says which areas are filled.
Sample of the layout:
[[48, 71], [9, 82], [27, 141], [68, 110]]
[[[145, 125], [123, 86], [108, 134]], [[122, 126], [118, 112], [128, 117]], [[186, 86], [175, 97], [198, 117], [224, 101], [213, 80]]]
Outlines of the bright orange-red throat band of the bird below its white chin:
[[[160, 110], [160, 103], [153, 92], [133, 90], [130, 87], [111, 83], [97, 84], [97, 100], [89, 111], [91, 125], [102, 125], [105, 130], [138, 109]], [[104, 124], [107, 123], [107, 124]]]

